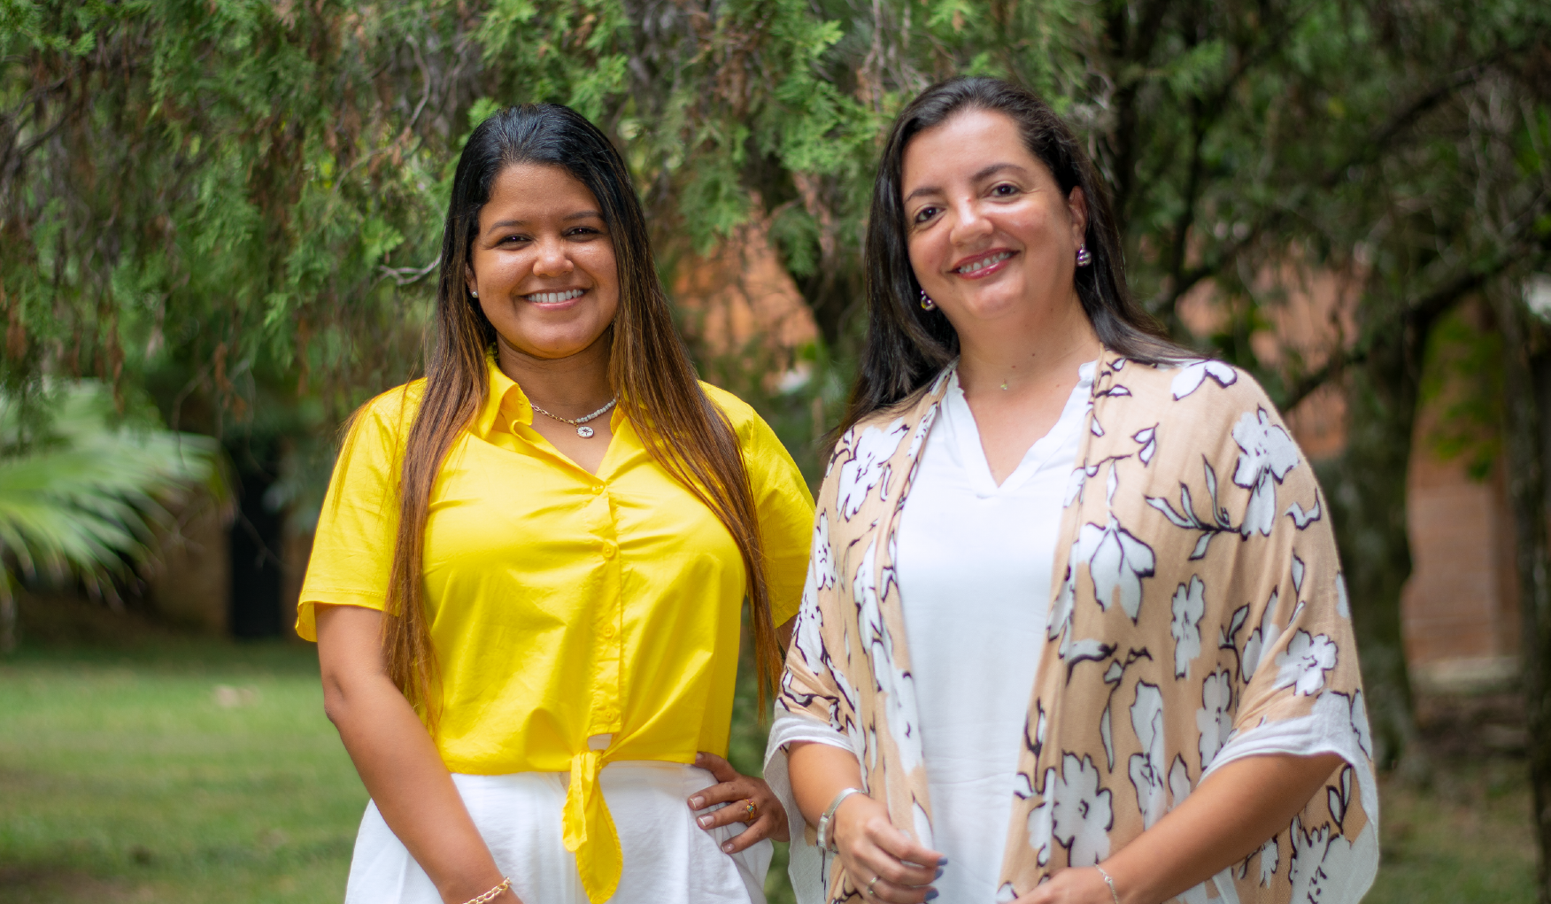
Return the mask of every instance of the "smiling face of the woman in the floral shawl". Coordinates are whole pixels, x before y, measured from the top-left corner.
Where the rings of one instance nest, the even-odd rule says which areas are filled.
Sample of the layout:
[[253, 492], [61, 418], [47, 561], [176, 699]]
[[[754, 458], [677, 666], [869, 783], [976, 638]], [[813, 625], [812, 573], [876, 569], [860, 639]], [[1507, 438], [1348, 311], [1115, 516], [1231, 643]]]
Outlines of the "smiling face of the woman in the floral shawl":
[[1061, 191], [1010, 116], [971, 109], [920, 132], [900, 185], [915, 279], [960, 332], [1076, 302], [1083, 191]]

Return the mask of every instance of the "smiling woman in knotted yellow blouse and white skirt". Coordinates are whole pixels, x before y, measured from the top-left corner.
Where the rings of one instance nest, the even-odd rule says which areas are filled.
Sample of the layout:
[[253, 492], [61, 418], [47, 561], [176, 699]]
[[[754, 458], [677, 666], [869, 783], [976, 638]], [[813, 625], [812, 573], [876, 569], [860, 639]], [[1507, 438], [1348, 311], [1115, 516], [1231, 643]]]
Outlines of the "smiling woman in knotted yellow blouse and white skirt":
[[372, 795], [346, 899], [762, 902], [786, 820], [721, 755], [743, 600], [769, 687], [811, 530], [771, 430], [695, 380], [608, 138], [475, 129], [427, 378], [357, 412], [301, 594]]

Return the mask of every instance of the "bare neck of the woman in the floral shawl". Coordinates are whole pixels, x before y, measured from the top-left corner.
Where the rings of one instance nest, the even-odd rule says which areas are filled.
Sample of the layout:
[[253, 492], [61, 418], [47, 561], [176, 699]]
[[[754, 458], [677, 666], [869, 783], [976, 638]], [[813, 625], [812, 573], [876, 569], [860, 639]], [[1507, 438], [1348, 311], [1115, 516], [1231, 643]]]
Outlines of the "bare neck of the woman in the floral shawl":
[[1066, 304], [1030, 305], [1014, 323], [977, 321], [954, 329], [959, 385], [969, 394], [1044, 386], [1104, 349], [1075, 292]]

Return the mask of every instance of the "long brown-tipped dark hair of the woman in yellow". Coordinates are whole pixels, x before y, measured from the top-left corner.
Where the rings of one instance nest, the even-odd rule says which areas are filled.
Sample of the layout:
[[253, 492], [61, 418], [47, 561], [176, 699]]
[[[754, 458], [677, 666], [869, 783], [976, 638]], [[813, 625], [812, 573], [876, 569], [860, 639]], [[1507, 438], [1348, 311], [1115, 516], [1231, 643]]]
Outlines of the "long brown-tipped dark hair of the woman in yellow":
[[431, 485], [458, 436], [475, 420], [489, 392], [485, 354], [495, 327], [470, 295], [470, 248], [479, 211], [503, 169], [518, 163], [558, 166], [591, 189], [608, 223], [619, 267], [619, 312], [611, 326], [608, 381], [656, 459], [704, 502], [732, 533], [748, 571], [760, 709], [780, 670], [771, 623], [765, 557], [754, 493], [738, 439], [695, 378], [673, 329], [667, 293], [647, 239], [647, 220], [625, 161], [596, 126], [569, 107], [523, 104], [473, 130], [447, 205], [442, 270], [436, 290], [436, 336], [425, 364], [425, 394], [405, 443], [399, 537], [394, 546], [383, 653], [399, 690], [439, 715], [436, 656], [425, 616], [422, 558]]

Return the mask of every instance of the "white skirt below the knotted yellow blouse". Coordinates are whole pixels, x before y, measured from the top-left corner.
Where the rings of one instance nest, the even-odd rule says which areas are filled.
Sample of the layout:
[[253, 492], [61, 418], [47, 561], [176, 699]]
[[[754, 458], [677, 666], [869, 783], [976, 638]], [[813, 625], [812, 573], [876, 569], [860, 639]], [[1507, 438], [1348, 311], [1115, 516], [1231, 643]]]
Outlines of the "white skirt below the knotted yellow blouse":
[[[524, 904], [588, 904], [575, 854], [561, 842], [560, 814], [569, 772], [453, 774], [453, 785], [495, 864]], [[762, 840], [737, 854], [721, 845], [743, 823], [706, 831], [686, 800], [715, 785], [710, 772], [681, 763], [610, 763], [599, 786], [619, 830], [625, 865], [610, 904], [765, 904], [774, 847]], [[375, 803], [355, 837], [346, 904], [442, 904]]]

